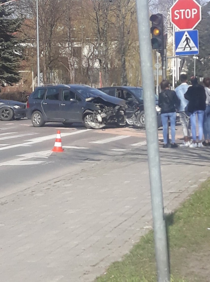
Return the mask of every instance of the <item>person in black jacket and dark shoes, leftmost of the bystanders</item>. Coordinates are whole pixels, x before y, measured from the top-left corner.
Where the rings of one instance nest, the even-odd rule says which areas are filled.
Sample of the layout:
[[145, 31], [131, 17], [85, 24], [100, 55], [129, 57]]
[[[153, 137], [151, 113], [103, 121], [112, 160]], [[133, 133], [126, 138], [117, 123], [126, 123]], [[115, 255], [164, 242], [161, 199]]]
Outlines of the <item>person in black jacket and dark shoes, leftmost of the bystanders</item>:
[[176, 96], [176, 92], [169, 89], [170, 82], [163, 80], [160, 84], [162, 92], [159, 94], [158, 105], [161, 108], [161, 120], [163, 125], [163, 148], [168, 147], [168, 119], [170, 119], [171, 128], [171, 147], [176, 148], [175, 143], [175, 127], [176, 127], [176, 110], [180, 106], [180, 100]]

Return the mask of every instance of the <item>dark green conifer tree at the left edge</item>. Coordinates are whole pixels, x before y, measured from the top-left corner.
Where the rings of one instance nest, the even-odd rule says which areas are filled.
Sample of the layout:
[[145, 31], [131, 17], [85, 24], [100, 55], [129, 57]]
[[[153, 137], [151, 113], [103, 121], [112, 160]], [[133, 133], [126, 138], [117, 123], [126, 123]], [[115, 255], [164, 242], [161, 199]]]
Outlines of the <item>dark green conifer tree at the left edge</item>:
[[[0, 3], [6, 1], [8, 0], [0, 0]], [[23, 47], [16, 37], [21, 23], [22, 19], [14, 17], [12, 5], [0, 6], [0, 86], [5, 86], [5, 83], [12, 85], [21, 79], [18, 67]]]

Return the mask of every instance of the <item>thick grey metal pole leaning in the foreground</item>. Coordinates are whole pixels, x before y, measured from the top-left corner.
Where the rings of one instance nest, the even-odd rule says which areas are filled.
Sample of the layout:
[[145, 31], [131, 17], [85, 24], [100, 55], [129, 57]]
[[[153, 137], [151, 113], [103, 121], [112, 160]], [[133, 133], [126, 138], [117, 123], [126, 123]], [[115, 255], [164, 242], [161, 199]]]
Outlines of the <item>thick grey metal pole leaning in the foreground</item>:
[[161, 182], [157, 113], [154, 96], [154, 74], [148, 1], [136, 0], [142, 85], [146, 120], [147, 154], [150, 174], [152, 216], [156, 251], [158, 282], [169, 282], [169, 256], [166, 223], [164, 219], [163, 191]]

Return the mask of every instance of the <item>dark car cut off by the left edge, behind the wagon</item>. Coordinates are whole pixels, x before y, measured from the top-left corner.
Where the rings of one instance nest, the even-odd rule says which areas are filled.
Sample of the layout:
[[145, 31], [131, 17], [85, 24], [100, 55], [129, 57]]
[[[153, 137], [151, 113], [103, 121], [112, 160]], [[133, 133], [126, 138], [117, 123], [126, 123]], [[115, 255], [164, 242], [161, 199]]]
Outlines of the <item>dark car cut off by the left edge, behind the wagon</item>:
[[26, 103], [0, 99], [0, 119], [1, 120], [19, 120], [26, 114]]

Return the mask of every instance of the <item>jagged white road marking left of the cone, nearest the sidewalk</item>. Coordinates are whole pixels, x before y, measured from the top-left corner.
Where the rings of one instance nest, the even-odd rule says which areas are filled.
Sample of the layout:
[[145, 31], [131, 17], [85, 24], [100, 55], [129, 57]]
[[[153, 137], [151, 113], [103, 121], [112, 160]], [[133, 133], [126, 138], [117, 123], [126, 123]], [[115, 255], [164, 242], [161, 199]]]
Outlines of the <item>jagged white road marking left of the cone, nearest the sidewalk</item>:
[[21, 158], [9, 160], [6, 162], [1, 162], [0, 166], [25, 166], [25, 165], [31, 165], [31, 164], [41, 164], [45, 161], [40, 160], [33, 160], [33, 161], [26, 161], [29, 158], [49, 158], [49, 156], [52, 154], [51, 150], [47, 151], [41, 151], [41, 152], [33, 152], [33, 153], [27, 153], [23, 155], [18, 155]]

